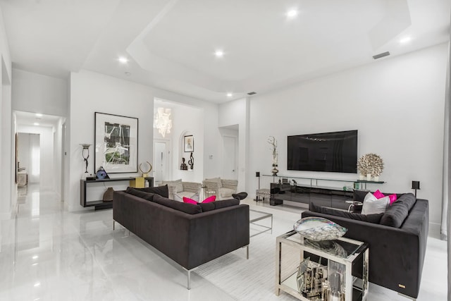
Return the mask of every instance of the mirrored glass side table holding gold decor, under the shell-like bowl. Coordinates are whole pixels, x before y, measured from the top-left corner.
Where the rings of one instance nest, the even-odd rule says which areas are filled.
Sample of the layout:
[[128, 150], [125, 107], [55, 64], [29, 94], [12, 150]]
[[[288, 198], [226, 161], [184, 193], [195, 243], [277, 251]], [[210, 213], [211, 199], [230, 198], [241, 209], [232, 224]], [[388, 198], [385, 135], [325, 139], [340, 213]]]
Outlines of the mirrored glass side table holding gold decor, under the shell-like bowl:
[[349, 238], [315, 242], [296, 231], [276, 239], [276, 295], [311, 301], [366, 300], [369, 247]]

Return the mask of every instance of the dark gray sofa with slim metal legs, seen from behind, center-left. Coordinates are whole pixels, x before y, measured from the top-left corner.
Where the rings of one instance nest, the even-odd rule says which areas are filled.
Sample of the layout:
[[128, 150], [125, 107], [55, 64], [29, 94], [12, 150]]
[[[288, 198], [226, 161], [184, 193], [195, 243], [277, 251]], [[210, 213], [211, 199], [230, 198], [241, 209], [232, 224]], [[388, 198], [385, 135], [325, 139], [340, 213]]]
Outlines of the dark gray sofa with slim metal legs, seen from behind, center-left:
[[136, 194], [142, 197], [114, 192], [113, 220], [183, 266], [188, 289], [192, 269], [249, 246], [249, 206], [237, 199], [201, 207], [152, 193]]

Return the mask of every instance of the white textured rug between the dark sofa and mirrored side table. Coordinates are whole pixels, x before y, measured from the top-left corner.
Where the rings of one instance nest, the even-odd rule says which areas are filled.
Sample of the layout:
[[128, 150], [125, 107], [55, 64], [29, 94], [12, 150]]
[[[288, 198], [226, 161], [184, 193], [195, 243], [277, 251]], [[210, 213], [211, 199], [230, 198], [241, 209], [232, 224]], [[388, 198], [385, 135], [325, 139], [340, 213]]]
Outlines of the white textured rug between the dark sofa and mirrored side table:
[[297, 300], [281, 292], [276, 296], [276, 236], [261, 233], [250, 238], [249, 259], [240, 249], [194, 271], [236, 300]]

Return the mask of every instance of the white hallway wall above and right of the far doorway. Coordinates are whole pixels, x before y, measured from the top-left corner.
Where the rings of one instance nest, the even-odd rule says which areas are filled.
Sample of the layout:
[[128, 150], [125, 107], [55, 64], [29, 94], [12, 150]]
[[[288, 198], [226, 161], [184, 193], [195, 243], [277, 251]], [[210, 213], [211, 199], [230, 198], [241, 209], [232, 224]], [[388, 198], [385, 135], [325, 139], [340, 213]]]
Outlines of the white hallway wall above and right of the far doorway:
[[[39, 189], [42, 191], [56, 191], [54, 179], [59, 176], [54, 174], [54, 134], [53, 129], [42, 126], [20, 125], [18, 133], [39, 134]], [[22, 166], [22, 165], [21, 165]], [[28, 171], [30, 182], [34, 181], [31, 171]]]

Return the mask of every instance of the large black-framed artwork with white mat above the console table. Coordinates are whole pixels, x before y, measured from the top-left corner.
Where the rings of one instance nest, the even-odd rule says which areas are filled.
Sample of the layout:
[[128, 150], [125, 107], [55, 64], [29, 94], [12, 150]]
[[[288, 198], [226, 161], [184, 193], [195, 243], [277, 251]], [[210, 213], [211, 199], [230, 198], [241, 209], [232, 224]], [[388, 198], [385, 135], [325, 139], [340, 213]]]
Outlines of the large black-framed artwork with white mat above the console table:
[[94, 113], [94, 171], [137, 173], [138, 118]]

